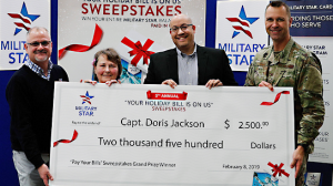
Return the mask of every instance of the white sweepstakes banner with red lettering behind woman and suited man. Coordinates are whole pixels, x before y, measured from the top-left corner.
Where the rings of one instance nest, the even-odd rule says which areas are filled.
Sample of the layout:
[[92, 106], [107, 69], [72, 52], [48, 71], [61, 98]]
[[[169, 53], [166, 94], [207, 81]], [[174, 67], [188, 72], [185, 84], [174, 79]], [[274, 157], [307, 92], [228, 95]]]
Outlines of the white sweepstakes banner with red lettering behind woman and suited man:
[[122, 59], [121, 81], [142, 83], [150, 54], [174, 48], [169, 22], [180, 13], [196, 25], [195, 42], [205, 43], [205, 0], [58, 2], [59, 64], [71, 81], [91, 79], [94, 53], [113, 48]]

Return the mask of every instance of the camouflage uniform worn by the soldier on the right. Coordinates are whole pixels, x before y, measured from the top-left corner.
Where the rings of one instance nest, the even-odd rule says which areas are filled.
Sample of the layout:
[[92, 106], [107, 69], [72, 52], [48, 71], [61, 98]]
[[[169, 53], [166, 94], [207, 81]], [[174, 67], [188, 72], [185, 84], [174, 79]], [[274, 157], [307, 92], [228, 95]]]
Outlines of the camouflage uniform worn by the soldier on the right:
[[[269, 72], [268, 72], [269, 70]], [[322, 68], [317, 58], [291, 38], [284, 50], [264, 48], [255, 55], [246, 74], [245, 86], [258, 86], [262, 81], [273, 86], [293, 86], [296, 144], [306, 146], [305, 158], [296, 178], [303, 185], [313, 141], [324, 122]]]

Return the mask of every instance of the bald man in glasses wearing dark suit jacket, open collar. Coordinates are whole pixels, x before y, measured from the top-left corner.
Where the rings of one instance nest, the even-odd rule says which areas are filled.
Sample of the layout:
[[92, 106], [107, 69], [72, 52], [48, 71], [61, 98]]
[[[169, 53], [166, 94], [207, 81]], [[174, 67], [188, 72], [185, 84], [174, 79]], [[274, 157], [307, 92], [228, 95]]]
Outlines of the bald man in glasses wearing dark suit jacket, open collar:
[[188, 16], [171, 19], [170, 34], [176, 48], [151, 55], [144, 84], [205, 85], [209, 89], [238, 85], [225, 52], [195, 44], [194, 33], [195, 25]]

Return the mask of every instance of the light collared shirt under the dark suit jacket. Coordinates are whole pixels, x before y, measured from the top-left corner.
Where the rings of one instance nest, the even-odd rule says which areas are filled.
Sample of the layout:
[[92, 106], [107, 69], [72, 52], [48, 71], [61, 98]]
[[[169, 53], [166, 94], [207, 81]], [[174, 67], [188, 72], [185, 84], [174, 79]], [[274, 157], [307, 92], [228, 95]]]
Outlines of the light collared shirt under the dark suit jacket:
[[180, 85], [198, 85], [196, 44], [192, 54], [182, 53], [178, 48], [178, 76]]

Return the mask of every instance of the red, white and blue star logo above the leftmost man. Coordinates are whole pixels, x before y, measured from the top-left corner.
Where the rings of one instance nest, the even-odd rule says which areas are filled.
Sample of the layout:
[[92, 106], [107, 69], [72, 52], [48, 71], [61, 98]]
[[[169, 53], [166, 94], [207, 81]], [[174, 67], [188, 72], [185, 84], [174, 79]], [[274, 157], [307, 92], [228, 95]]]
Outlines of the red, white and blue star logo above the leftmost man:
[[27, 31], [30, 30], [31, 22], [33, 22], [39, 14], [29, 14], [26, 3], [23, 2], [22, 9], [20, 13], [8, 13], [11, 18], [16, 19], [14, 24], [18, 27], [16, 28], [14, 35], [18, 34], [22, 29]]

